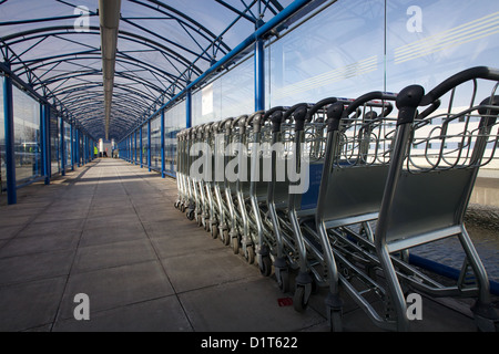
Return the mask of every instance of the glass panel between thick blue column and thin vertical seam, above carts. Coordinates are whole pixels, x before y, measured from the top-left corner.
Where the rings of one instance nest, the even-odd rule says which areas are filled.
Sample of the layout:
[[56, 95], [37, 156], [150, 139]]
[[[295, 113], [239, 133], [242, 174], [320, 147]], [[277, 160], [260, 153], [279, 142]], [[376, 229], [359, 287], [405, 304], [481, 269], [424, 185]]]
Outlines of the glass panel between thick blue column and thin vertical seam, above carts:
[[384, 90], [384, 0], [340, 0], [266, 50], [266, 106]]

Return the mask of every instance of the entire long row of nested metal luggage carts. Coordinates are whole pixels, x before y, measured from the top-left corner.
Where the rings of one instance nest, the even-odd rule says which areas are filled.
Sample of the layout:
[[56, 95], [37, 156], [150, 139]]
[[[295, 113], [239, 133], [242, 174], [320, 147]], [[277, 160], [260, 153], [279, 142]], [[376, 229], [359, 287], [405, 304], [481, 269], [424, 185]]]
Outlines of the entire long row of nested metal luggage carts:
[[[498, 145], [498, 81], [499, 70], [478, 66], [428, 93], [410, 85], [327, 97], [186, 128], [175, 207], [274, 273], [297, 311], [327, 287], [334, 331], [345, 295], [377, 326], [406, 331], [409, 293], [473, 298], [478, 327], [495, 331], [490, 283], [464, 216]], [[414, 249], [450, 237], [465, 253], [458, 279], [415, 264]]]

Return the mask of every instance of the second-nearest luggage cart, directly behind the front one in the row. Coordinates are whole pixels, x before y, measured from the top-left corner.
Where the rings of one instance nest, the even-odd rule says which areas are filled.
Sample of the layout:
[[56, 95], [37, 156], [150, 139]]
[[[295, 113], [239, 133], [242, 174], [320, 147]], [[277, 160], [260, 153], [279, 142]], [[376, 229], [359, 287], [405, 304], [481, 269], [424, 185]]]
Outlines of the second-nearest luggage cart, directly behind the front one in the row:
[[[374, 240], [369, 222], [377, 219], [389, 168], [395, 119], [388, 115], [396, 97], [373, 92], [349, 103], [335, 103], [327, 112], [315, 222], [304, 223], [303, 232], [306, 239], [320, 243], [329, 285], [326, 306], [334, 330], [342, 329], [339, 284], [363, 309], [369, 305], [365, 299], [369, 292], [384, 295], [383, 288], [371, 279], [376, 257], [364, 243]], [[343, 232], [347, 226], [357, 227], [358, 241]], [[356, 291], [358, 284], [365, 288]]]

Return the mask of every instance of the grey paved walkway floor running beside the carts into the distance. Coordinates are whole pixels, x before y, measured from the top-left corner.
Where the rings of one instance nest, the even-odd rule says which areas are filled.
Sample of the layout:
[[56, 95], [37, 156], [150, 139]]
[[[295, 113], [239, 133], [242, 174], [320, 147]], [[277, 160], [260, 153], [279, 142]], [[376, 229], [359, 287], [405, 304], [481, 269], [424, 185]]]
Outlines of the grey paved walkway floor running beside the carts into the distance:
[[[4, 198], [4, 196], [2, 196]], [[0, 206], [0, 331], [328, 331], [319, 292], [304, 313], [281, 306], [273, 277], [173, 207], [176, 184], [98, 159]], [[74, 298], [90, 300], [77, 321]], [[352, 303], [346, 331], [377, 331]], [[424, 300], [417, 331], [476, 331]]]

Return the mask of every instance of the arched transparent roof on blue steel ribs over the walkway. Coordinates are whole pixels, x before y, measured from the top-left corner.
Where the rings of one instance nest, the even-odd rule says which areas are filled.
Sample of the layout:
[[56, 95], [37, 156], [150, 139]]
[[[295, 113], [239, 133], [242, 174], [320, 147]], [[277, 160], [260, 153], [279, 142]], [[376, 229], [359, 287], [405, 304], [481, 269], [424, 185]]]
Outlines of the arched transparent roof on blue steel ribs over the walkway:
[[[291, 4], [0, 0], [0, 71], [94, 138], [120, 139]], [[113, 15], [118, 31], [104, 37], [103, 21]], [[108, 81], [106, 49], [113, 59]]]

